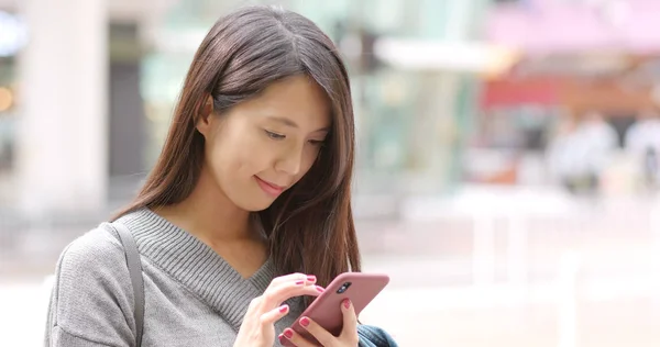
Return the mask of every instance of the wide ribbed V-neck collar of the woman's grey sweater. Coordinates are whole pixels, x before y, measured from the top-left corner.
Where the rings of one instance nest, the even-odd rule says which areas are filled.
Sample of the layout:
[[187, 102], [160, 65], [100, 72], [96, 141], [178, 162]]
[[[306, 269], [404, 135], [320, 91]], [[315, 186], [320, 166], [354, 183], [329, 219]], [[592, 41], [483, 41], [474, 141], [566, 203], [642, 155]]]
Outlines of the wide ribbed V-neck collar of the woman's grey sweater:
[[177, 280], [226, 318], [241, 326], [250, 301], [261, 295], [275, 275], [271, 258], [243, 278], [222, 256], [187, 231], [148, 209], [122, 216], [143, 257]]

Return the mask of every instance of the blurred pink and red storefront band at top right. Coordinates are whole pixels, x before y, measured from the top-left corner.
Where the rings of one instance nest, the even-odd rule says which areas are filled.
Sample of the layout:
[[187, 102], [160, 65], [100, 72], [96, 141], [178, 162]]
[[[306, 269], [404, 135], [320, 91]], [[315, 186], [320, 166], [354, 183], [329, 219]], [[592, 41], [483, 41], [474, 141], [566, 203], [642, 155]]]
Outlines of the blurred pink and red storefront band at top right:
[[521, 55], [506, 75], [488, 81], [485, 107], [623, 113], [656, 105], [660, 33], [649, 27], [658, 1], [501, 2], [488, 15], [487, 40]]

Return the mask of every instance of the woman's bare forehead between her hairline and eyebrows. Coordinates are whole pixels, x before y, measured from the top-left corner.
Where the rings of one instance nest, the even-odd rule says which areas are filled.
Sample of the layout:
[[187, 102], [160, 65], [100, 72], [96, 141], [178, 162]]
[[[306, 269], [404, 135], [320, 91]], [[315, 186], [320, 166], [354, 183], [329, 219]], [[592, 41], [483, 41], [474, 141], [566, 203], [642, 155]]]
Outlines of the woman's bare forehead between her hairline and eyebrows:
[[328, 127], [331, 105], [326, 91], [307, 76], [274, 82], [258, 97], [244, 103], [257, 119], [288, 119], [305, 130]]

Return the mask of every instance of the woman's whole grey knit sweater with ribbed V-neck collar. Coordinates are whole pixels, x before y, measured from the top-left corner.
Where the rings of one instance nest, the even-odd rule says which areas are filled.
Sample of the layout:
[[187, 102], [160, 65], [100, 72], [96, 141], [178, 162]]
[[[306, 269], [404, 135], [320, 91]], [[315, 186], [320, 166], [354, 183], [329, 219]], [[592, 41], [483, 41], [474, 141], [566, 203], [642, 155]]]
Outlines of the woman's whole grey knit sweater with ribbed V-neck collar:
[[[232, 346], [250, 301], [274, 277], [267, 261], [243, 279], [186, 231], [150, 210], [120, 219], [142, 257], [145, 313], [142, 346]], [[300, 298], [276, 335], [301, 313]], [[108, 224], [62, 254], [48, 310], [46, 346], [134, 346], [133, 292], [123, 248]], [[279, 346], [277, 338], [273, 342]]]

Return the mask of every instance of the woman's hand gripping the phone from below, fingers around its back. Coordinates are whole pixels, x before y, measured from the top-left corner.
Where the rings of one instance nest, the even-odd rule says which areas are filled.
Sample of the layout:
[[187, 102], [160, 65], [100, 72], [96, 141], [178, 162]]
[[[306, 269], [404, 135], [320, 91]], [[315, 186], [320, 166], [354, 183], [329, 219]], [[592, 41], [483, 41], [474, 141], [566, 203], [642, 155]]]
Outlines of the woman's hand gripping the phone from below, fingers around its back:
[[[300, 326], [306, 328], [323, 347], [356, 347], [360, 343], [358, 337], [358, 317], [355, 316], [355, 310], [350, 300], [346, 299], [341, 303], [341, 312], [343, 313], [343, 327], [339, 336], [330, 334], [308, 317], [300, 317], [298, 322], [300, 323]], [[285, 329], [282, 335], [288, 338], [297, 347], [317, 347], [316, 344], [308, 342], [292, 328]]]

